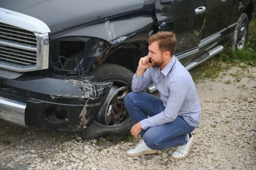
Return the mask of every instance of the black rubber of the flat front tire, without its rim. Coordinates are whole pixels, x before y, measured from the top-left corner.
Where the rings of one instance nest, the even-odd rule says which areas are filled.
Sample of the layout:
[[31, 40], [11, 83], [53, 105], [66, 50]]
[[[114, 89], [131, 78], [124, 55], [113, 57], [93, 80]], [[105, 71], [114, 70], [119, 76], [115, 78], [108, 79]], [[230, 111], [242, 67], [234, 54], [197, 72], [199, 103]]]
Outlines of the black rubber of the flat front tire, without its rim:
[[[113, 85], [119, 84], [119, 87], [122, 84], [121, 86], [127, 86], [129, 92], [131, 92], [134, 73], [123, 66], [117, 64], [102, 64], [87, 75], [94, 76], [92, 81], [95, 82], [114, 82]], [[120, 140], [125, 134], [130, 132], [132, 126], [133, 122], [130, 116], [115, 125], [105, 125], [94, 120], [85, 131], [80, 132], [80, 136], [84, 139], [91, 139], [97, 138], [100, 135], [109, 135], [113, 139]]]

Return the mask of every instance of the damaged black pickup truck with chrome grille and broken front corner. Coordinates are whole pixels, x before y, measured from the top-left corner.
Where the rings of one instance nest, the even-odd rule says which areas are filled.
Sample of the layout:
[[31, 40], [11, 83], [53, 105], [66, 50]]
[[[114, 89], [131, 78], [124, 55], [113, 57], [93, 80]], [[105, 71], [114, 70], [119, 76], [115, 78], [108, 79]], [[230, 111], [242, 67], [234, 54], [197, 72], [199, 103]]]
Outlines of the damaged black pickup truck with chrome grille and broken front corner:
[[256, 0], [1, 0], [0, 119], [121, 136], [132, 127], [123, 98], [151, 35], [174, 31], [189, 70], [223, 41], [244, 48], [255, 16]]

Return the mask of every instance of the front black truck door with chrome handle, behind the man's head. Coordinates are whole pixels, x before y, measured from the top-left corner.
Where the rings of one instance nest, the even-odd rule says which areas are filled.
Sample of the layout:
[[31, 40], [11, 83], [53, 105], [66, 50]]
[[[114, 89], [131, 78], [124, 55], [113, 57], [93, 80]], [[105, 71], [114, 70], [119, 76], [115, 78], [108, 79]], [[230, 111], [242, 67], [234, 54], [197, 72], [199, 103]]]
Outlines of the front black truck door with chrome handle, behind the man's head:
[[156, 0], [158, 31], [173, 31], [177, 46], [175, 56], [186, 64], [199, 51], [201, 30], [206, 16], [205, 0]]

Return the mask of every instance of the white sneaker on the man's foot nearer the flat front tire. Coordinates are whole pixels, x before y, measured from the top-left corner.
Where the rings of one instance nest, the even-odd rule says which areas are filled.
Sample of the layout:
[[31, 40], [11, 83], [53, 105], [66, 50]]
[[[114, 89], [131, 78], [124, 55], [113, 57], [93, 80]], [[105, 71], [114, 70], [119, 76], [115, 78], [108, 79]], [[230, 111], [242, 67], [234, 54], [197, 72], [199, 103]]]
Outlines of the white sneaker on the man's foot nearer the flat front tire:
[[135, 156], [141, 156], [144, 154], [153, 154], [157, 152], [158, 150], [152, 150], [148, 148], [145, 142], [142, 140], [142, 142], [140, 142], [135, 148], [127, 151], [126, 154], [130, 157], [135, 157]]

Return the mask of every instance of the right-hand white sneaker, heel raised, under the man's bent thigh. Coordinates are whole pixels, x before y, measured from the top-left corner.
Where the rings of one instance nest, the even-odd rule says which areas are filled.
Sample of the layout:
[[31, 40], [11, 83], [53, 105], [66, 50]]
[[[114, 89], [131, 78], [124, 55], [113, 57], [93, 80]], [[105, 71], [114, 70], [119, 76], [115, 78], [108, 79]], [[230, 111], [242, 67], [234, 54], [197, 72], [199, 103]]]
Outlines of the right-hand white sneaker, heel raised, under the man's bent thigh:
[[189, 138], [189, 141], [186, 145], [181, 145], [181, 146], [177, 147], [176, 151], [173, 152], [173, 154], [171, 155], [172, 158], [174, 158], [176, 160], [180, 160], [180, 159], [184, 159], [188, 156], [190, 148], [195, 140], [193, 134], [191, 134], [191, 135], [192, 136], [191, 136], [191, 138]]

